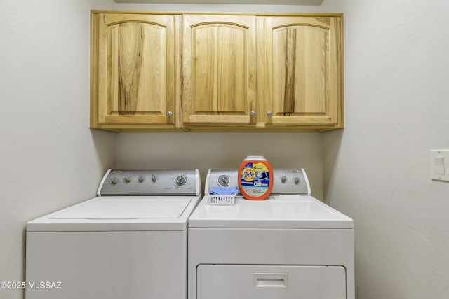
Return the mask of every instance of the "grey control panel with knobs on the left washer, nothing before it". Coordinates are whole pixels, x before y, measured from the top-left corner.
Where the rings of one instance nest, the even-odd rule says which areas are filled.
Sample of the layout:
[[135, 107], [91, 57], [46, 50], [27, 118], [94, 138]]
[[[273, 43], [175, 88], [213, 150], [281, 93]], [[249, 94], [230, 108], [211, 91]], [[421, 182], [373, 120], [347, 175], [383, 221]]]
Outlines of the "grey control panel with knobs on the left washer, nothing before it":
[[109, 169], [98, 195], [200, 195], [198, 169]]

